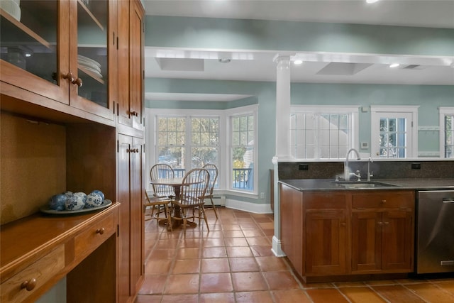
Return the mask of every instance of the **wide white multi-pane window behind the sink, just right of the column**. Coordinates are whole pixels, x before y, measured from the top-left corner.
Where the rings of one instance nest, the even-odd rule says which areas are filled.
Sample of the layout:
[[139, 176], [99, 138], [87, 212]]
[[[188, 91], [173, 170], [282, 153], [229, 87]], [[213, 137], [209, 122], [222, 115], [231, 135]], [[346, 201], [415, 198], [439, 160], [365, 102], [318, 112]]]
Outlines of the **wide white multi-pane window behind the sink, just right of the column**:
[[339, 159], [358, 142], [358, 107], [292, 106], [291, 150], [297, 159]]

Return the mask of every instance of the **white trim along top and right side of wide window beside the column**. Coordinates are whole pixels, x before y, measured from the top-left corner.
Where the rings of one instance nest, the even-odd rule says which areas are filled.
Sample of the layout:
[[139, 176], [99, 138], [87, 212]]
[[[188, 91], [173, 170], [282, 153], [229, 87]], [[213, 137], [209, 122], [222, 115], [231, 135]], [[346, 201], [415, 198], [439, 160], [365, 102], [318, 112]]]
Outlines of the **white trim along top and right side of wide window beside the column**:
[[[359, 108], [360, 106], [345, 105], [292, 105], [290, 114], [351, 114], [352, 123], [352, 148], [359, 150], [360, 131], [359, 131]], [[290, 130], [289, 130], [290, 131]], [[341, 159], [341, 158], [340, 158]], [[330, 159], [304, 159], [304, 160], [330, 160]], [[331, 159], [333, 160], [333, 159]]]

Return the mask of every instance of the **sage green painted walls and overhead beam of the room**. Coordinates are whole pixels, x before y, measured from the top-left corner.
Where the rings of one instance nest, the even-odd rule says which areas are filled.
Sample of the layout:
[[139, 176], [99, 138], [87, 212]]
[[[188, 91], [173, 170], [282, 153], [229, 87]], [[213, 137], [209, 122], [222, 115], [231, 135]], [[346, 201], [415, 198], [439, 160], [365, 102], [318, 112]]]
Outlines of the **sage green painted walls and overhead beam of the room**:
[[[389, 55], [454, 55], [454, 30], [341, 23], [253, 21], [146, 16], [145, 46], [276, 52], [341, 52]], [[146, 101], [149, 108], [230, 109], [258, 104], [258, 192], [267, 203], [275, 155], [276, 84], [192, 79], [145, 79], [146, 92], [248, 94], [232, 102]], [[454, 106], [453, 86], [292, 84], [292, 104], [419, 105], [419, 124], [438, 126], [438, 106]], [[360, 111], [360, 141], [370, 141], [370, 111]], [[438, 132], [419, 135], [419, 149], [438, 150]], [[230, 197], [230, 196], [229, 196]]]

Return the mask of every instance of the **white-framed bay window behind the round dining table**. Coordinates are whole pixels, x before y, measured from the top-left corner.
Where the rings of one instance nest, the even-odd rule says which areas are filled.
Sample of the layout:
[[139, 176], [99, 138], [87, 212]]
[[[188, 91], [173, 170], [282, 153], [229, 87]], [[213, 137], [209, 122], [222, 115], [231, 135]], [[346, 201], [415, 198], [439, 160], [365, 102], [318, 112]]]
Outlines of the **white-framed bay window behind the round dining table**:
[[193, 167], [211, 163], [218, 167], [217, 189], [256, 195], [257, 109], [147, 111], [148, 121], [155, 121], [147, 126], [147, 167], [167, 163], [182, 177]]

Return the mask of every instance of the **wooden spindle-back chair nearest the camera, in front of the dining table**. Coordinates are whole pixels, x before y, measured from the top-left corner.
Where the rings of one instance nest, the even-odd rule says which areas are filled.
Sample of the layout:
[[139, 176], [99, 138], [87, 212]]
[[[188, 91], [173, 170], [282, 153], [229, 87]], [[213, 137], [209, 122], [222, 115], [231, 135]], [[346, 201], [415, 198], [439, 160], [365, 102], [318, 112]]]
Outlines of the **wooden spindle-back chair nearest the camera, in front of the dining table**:
[[[210, 230], [204, 208], [204, 197], [208, 184], [209, 172], [204, 168], [194, 168], [184, 175], [179, 199], [172, 200], [172, 205], [181, 209], [178, 211], [181, 216], [172, 216], [172, 219], [183, 221], [184, 232], [186, 232], [188, 219], [195, 222], [196, 218], [199, 219], [199, 224], [200, 220], [204, 219], [206, 228], [208, 231]], [[191, 211], [192, 214], [189, 214]]]

